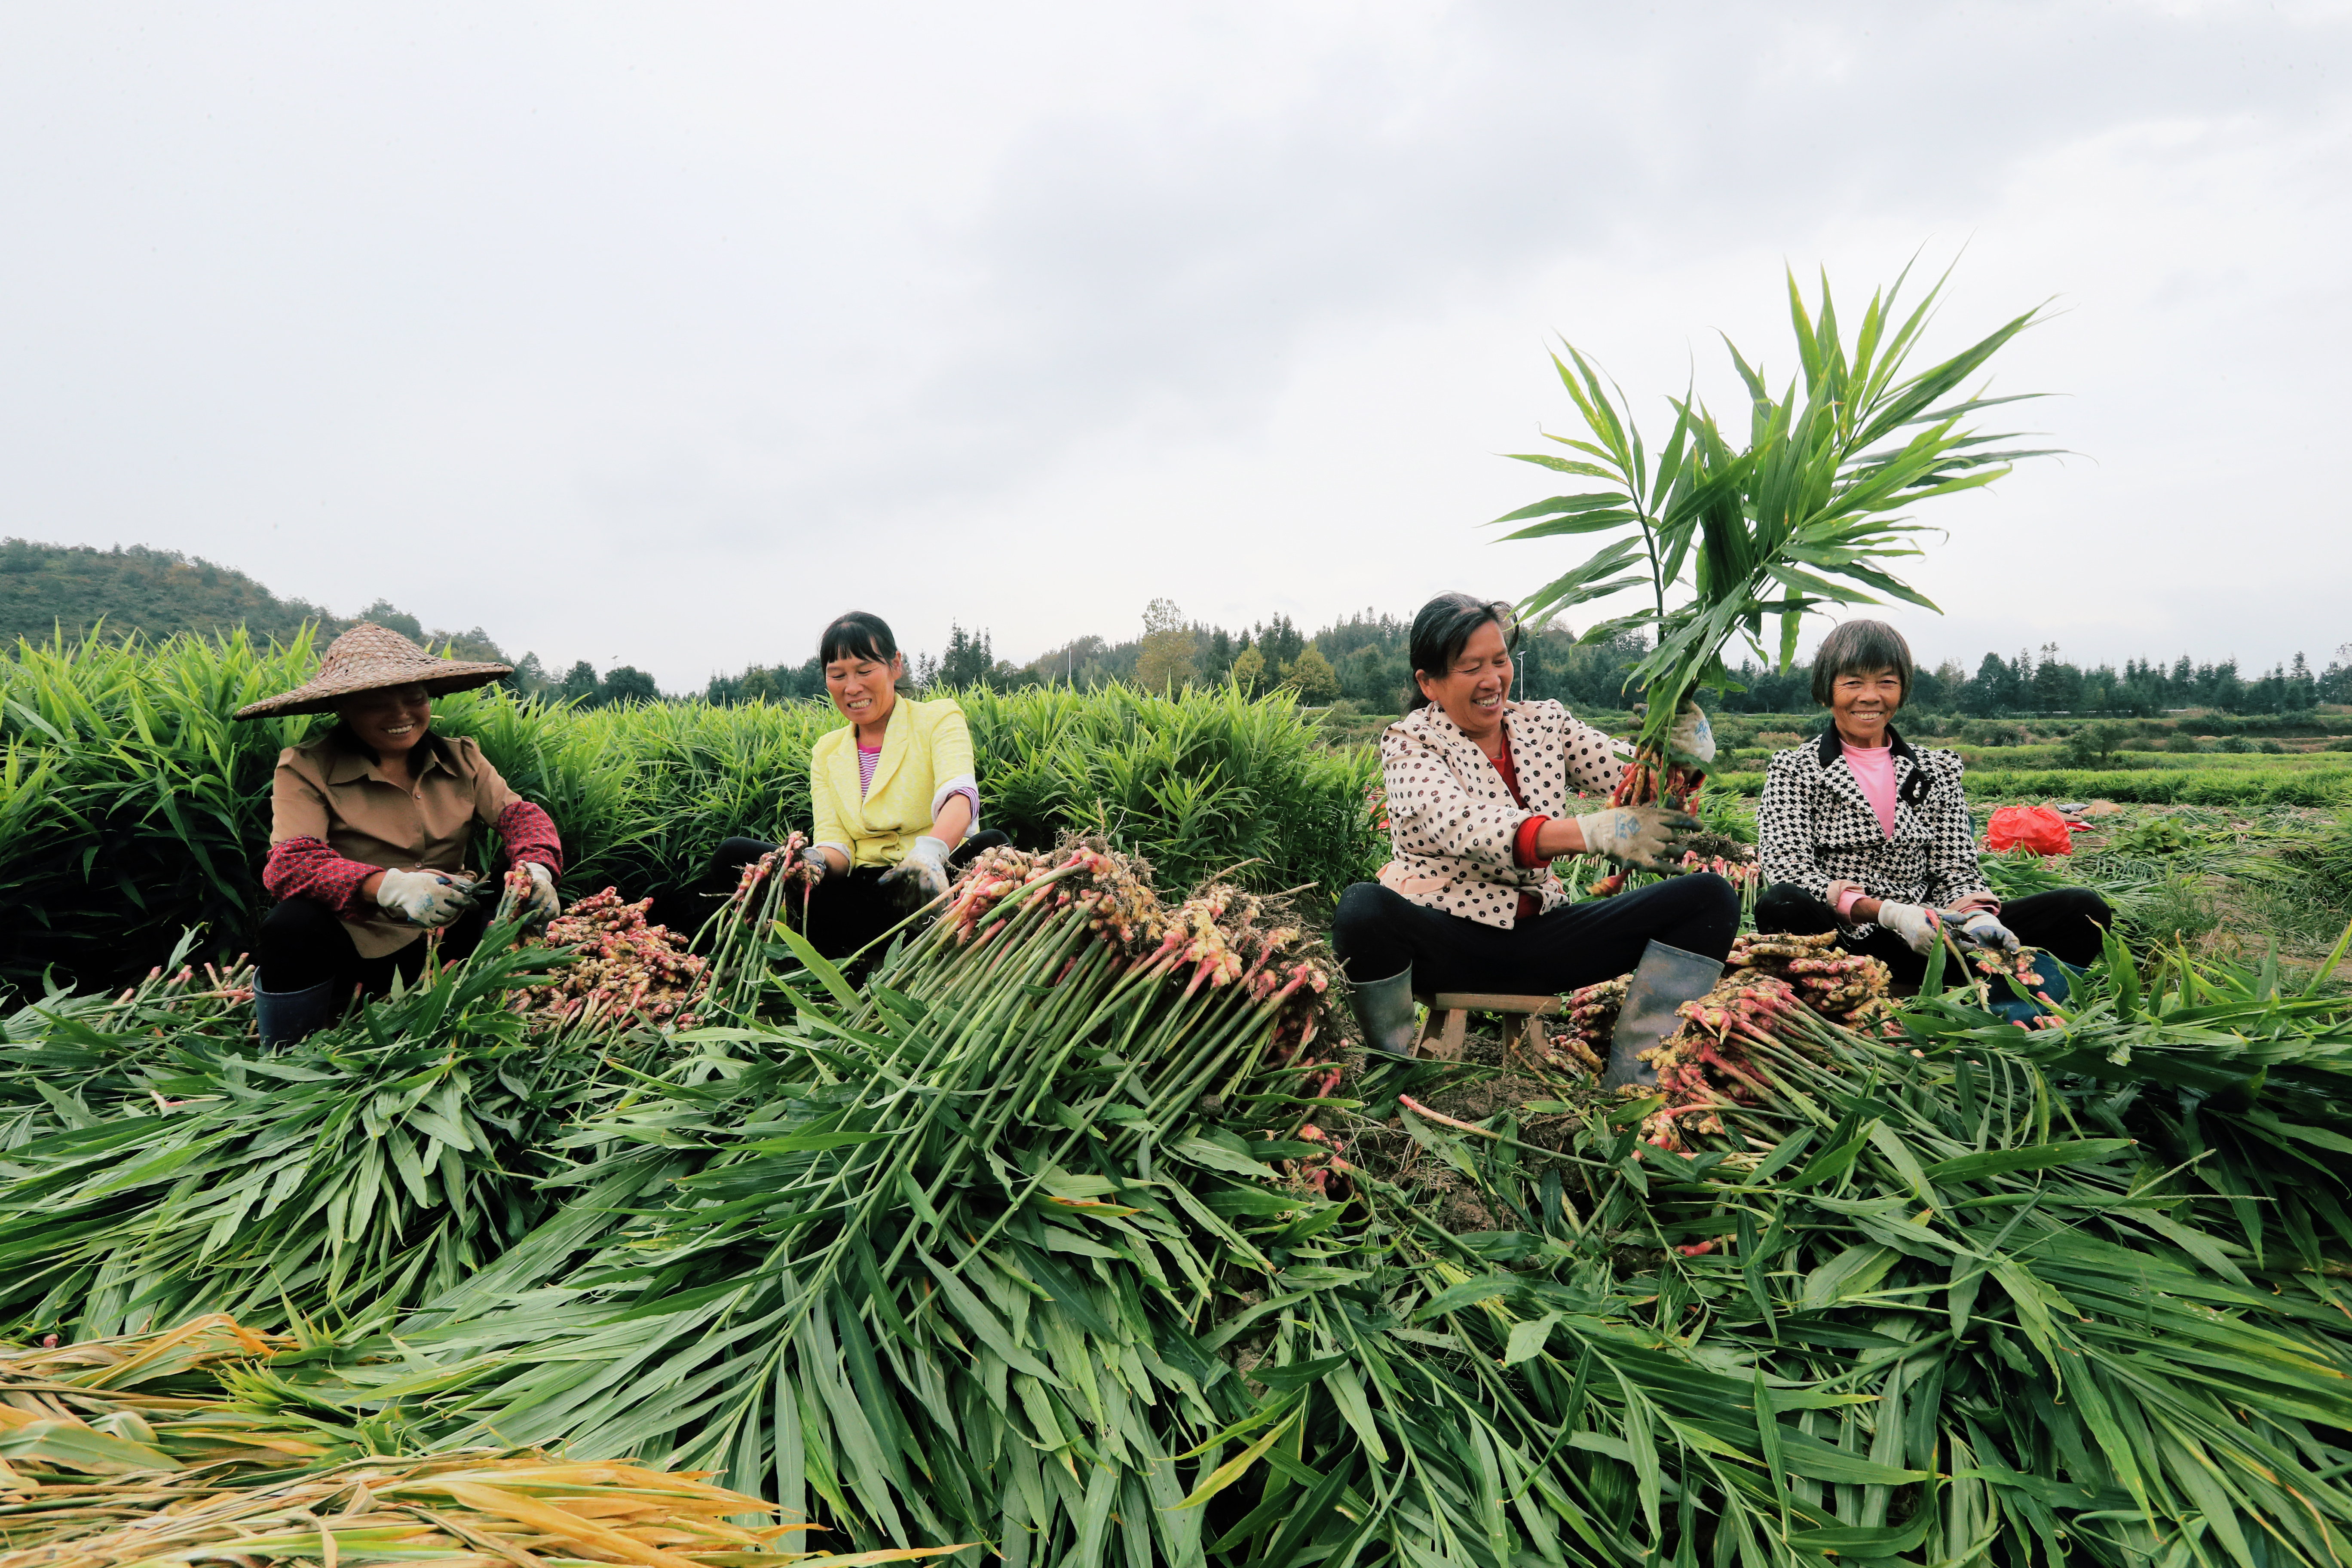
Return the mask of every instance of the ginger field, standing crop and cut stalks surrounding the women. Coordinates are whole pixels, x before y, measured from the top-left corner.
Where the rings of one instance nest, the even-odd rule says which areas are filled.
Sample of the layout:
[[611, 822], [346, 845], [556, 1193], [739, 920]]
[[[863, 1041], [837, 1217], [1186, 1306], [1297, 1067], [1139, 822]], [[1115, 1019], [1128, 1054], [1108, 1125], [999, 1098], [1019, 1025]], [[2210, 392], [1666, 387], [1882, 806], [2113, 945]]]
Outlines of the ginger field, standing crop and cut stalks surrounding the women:
[[[2065, 994], [1952, 961], [1853, 1009], [1750, 945], [1604, 1093], [1569, 1048], [1357, 1048], [1345, 724], [974, 693], [1028, 844], [868, 973], [750, 877], [691, 952], [630, 931], [659, 999], [508, 926], [268, 1051], [249, 971], [160, 961], [252, 907], [280, 736], [223, 715], [273, 658], [7, 675], [0, 875], [64, 961], [0, 1009], [0, 1568], [2352, 1552], [2340, 804], [2060, 792], [2117, 809], [1990, 875], [2119, 907]], [[826, 724], [447, 722], [534, 780], [569, 896], [621, 884], [583, 945], [788, 825]]]

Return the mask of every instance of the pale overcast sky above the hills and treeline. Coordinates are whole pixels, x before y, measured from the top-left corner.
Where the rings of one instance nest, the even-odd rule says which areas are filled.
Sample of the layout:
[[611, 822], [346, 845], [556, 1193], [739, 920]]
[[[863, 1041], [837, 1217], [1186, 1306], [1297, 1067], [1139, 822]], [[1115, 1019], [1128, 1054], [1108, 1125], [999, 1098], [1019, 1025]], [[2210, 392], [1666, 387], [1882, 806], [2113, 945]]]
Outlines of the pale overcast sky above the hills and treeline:
[[[1566, 543], [1557, 334], [1743, 421], [1783, 261], [2079, 456], [1938, 501], [1933, 661], [2352, 642], [2347, 5], [9, 5], [0, 534], [663, 686], [1028, 658]], [[1665, 418], [1653, 418], [1663, 430]], [[1592, 614], [1592, 611], [1581, 611]]]

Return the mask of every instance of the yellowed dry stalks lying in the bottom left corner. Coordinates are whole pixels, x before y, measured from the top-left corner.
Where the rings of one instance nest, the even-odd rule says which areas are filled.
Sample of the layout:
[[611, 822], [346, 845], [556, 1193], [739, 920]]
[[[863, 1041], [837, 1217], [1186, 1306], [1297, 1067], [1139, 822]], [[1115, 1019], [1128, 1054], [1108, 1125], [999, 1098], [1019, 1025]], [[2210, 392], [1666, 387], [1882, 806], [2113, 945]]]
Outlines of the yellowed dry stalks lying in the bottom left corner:
[[534, 1450], [400, 1453], [397, 1425], [278, 1380], [270, 1359], [294, 1349], [219, 1314], [0, 1349], [0, 1568], [851, 1561], [800, 1549], [816, 1526], [776, 1521], [771, 1502], [699, 1474]]

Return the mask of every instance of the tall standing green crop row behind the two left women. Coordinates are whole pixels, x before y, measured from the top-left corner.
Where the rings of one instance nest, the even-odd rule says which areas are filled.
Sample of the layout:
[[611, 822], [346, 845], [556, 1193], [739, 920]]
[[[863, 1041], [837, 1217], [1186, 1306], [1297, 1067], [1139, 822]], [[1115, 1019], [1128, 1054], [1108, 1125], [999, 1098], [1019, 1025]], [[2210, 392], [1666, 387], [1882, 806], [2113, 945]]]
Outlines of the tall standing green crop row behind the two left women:
[[[282, 745], [332, 719], [230, 715], [299, 684], [308, 639], [68, 642], [0, 661], [0, 985], [52, 964], [122, 983], [207, 926], [249, 945], [268, 907], [268, 788]], [[1105, 835], [1181, 886], [1237, 867], [1258, 889], [1336, 893], [1383, 853], [1367, 790], [1378, 762], [1334, 752], [1284, 696], [1176, 698], [1127, 689], [962, 696], [983, 820], [1028, 846]], [[823, 703], [649, 703], [576, 710], [470, 691], [435, 708], [473, 736], [564, 835], [574, 893], [677, 882], [731, 835], [809, 825], [809, 745]]]

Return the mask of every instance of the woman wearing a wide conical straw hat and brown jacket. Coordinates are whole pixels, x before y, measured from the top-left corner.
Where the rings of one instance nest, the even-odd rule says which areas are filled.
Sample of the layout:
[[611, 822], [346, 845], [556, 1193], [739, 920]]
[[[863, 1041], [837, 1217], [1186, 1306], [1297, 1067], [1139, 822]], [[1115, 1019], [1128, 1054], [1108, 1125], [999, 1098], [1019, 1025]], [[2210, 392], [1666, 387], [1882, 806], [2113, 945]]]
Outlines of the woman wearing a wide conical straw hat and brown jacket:
[[496, 827], [506, 858], [532, 877], [532, 912], [555, 914], [562, 842], [473, 741], [433, 733], [433, 698], [470, 691], [510, 665], [433, 658], [362, 621], [332, 644], [306, 684], [238, 710], [240, 719], [332, 712], [334, 729], [278, 752], [270, 858], [261, 884], [278, 907], [261, 922], [254, 1013], [263, 1041], [294, 1041], [393, 976], [423, 971], [428, 931], [442, 957], [482, 936], [482, 886], [466, 870], [473, 825]]

